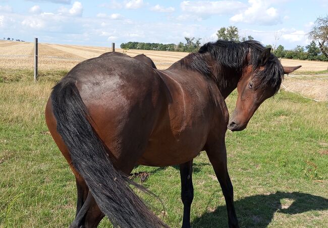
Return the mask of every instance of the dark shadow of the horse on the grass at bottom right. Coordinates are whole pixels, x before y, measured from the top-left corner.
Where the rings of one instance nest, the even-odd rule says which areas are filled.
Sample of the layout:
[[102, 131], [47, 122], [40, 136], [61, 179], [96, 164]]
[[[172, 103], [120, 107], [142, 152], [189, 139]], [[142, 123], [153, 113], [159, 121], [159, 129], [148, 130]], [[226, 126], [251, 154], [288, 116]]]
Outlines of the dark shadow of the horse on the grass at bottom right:
[[[310, 210], [328, 210], [328, 199], [300, 192], [276, 192], [237, 200], [235, 207], [241, 227], [266, 227], [275, 212], [298, 214]], [[213, 212], [205, 212], [192, 221], [194, 228], [227, 226], [226, 206], [219, 206]]]

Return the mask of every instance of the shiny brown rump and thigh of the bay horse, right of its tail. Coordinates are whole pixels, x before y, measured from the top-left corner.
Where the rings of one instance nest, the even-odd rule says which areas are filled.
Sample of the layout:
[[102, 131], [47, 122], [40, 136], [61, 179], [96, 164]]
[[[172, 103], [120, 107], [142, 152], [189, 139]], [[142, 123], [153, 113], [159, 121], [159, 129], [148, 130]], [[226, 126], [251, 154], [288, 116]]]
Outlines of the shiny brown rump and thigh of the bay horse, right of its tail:
[[162, 97], [155, 70], [130, 57], [107, 57], [80, 65], [76, 80], [91, 124], [110, 150], [114, 164], [128, 173], [147, 145]]

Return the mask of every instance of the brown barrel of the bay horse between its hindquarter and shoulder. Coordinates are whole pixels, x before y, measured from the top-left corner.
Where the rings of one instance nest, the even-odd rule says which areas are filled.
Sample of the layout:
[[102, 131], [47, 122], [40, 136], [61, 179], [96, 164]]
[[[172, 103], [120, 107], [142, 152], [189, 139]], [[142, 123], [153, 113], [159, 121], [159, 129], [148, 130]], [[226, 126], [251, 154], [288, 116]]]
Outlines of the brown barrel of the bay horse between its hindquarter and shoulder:
[[213, 105], [208, 81], [198, 73], [158, 72], [167, 104], [138, 164], [177, 165], [195, 158], [203, 148]]

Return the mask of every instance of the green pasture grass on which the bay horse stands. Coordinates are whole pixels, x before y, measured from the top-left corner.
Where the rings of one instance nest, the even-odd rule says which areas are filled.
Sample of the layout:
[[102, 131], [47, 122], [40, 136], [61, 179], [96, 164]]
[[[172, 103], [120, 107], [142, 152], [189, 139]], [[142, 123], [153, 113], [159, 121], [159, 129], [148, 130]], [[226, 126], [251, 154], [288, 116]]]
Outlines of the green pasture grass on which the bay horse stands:
[[[47, 133], [44, 106], [56, 77], [32, 81], [0, 71], [0, 227], [68, 227], [75, 215], [74, 176]], [[46, 75], [46, 74], [45, 74]], [[11, 80], [9, 80], [11, 78]], [[14, 79], [14, 80], [12, 80]], [[228, 99], [232, 111], [234, 92]], [[328, 104], [281, 92], [265, 101], [246, 130], [227, 132], [228, 166], [242, 227], [326, 227]], [[220, 185], [203, 152], [194, 160], [193, 227], [227, 227]], [[172, 227], [182, 223], [177, 167], [138, 166], [163, 201], [145, 199]], [[139, 180], [136, 179], [138, 182]], [[110, 226], [105, 218], [100, 227]]]

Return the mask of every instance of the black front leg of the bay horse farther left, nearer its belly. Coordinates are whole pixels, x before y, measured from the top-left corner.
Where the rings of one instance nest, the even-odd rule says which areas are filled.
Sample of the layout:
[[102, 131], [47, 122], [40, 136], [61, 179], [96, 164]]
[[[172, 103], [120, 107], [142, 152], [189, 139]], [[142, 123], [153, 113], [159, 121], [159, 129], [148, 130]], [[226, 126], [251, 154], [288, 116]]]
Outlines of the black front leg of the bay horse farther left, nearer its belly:
[[181, 177], [181, 200], [183, 203], [182, 227], [190, 227], [190, 207], [194, 198], [194, 187], [192, 185], [192, 161], [180, 165]]

